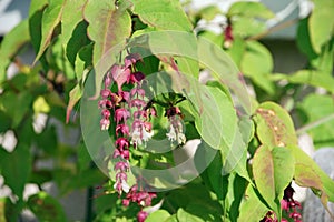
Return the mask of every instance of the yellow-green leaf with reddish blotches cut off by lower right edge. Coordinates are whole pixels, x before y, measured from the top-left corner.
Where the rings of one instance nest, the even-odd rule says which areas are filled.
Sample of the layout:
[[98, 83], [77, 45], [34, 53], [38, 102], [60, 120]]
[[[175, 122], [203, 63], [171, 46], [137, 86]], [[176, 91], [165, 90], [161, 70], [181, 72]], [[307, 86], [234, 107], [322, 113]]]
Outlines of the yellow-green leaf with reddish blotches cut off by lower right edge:
[[298, 147], [288, 147], [295, 158], [294, 180], [301, 186], [320, 190], [322, 203], [334, 202], [334, 181]]

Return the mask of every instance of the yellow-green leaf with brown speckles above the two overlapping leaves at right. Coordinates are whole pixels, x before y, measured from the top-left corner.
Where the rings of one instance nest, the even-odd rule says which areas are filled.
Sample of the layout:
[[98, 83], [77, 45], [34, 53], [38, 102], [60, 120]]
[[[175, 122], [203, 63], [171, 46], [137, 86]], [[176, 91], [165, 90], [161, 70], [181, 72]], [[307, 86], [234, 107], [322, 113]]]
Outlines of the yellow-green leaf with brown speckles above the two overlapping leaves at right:
[[256, 134], [263, 144], [286, 147], [297, 144], [293, 121], [282, 107], [274, 102], [262, 103], [254, 117]]

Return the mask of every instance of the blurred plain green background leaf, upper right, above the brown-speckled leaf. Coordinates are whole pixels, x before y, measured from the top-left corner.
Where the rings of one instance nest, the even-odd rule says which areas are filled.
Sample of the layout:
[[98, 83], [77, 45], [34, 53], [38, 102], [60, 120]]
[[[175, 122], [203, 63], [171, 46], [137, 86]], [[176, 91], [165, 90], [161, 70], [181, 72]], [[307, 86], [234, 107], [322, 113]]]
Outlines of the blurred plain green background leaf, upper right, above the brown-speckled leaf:
[[240, 62], [240, 70], [267, 93], [275, 93], [274, 84], [268, 78], [273, 71], [273, 58], [262, 43], [256, 41], [246, 42], [246, 51]]

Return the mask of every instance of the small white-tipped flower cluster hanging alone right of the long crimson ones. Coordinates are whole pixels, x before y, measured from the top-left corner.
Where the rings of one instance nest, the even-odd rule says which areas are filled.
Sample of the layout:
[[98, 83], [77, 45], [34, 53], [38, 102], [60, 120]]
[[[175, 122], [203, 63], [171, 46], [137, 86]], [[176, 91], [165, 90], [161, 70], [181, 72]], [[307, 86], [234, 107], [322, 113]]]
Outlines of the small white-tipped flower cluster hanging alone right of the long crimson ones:
[[170, 140], [171, 144], [174, 141], [177, 142], [177, 144], [184, 144], [186, 143], [186, 135], [184, 133], [184, 125], [181, 122], [183, 114], [178, 107], [171, 107], [166, 110], [165, 114], [169, 120], [169, 132], [166, 133], [168, 137], [168, 140]]

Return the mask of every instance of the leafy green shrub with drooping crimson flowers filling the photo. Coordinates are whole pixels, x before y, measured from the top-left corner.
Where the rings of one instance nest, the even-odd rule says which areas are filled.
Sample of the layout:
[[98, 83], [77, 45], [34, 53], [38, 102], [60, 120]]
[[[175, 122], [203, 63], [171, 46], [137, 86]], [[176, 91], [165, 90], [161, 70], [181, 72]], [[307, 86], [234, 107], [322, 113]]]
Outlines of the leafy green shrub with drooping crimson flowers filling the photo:
[[[43, 191], [49, 181], [63, 194], [89, 190], [87, 221], [297, 222], [293, 182], [328, 211], [334, 182], [298, 135], [334, 145], [332, 2], [314, 0], [297, 21], [308, 63], [273, 73], [259, 40], [275, 14], [261, 2], [223, 12], [184, 10], [177, 0], [32, 0], [0, 46], [0, 133], [17, 140], [13, 150], [0, 144], [11, 190], [0, 221], [24, 209], [67, 221]], [[199, 28], [216, 16], [226, 18], [220, 33]], [[24, 64], [30, 48], [35, 61]], [[63, 144], [55, 120], [82, 139]], [[26, 198], [28, 183], [39, 191]]]

